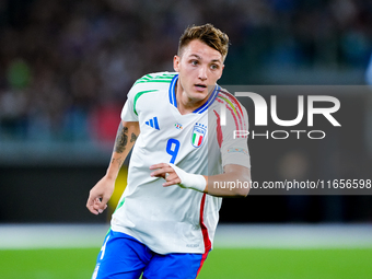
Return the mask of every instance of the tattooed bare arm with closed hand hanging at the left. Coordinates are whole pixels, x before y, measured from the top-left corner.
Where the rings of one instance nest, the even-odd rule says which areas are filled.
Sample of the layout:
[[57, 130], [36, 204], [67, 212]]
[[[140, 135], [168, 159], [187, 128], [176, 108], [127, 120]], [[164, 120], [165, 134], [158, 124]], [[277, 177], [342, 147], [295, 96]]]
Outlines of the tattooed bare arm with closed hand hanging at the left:
[[93, 213], [102, 213], [107, 208], [107, 201], [115, 188], [115, 179], [120, 167], [133, 147], [140, 133], [139, 124], [136, 121], [121, 121], [117, 129], [112, 160], [105, 176], [91, 189], [86, 208]]

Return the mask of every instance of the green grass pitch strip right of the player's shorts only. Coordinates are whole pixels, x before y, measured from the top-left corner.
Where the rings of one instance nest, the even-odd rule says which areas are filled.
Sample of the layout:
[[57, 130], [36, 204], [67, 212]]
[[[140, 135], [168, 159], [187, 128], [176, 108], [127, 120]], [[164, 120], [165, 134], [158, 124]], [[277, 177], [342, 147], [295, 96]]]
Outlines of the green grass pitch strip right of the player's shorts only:
[[200, 278], [367, 279], [371, 260], [372, 249], [216, 249]]

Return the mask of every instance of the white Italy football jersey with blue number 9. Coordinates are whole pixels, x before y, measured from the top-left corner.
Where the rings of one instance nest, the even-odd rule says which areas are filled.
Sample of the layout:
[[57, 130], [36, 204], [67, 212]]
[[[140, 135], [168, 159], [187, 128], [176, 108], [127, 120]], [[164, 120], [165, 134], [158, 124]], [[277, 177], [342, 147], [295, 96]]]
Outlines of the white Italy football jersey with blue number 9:
[[[234, 139], [234, 130], [247, 130], [247, 114], [233, 95], [216, 85], [205, 105], [181, 115], [177, 79], [175, 72], [148, 74], [128, 93], [121, 119], [139, 121], [140, 135], [112, 230], [159, 254], [206, 253], [212, 247], [222, 199], [177, 185], [163, 187], [165, 181], [151, 177], [149, 167], [174, 163], [202, 175], [220, 174], [226, 164], [251, 167], [246, 136]], [[220, 125], [222, 106], [224, 126]]]

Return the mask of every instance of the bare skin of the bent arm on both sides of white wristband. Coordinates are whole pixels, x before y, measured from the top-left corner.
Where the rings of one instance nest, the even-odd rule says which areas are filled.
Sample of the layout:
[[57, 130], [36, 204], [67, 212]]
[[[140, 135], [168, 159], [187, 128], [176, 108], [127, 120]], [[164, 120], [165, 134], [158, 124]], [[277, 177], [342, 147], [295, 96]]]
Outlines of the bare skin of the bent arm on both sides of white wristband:
[[[155, 164], [150, 168], [155, 170], [152, 172], [152, 176], [165, 179], [163, 186], [181, 184], [177, 173], [168, 164]], [[204, 193], [217, 197], [246, 197], [251, 189], [251, 170], [242, 165], [229, 164], [224, 166], [223, 171], [222, 174], [218, 175], [204, 175], [206, 179]]]

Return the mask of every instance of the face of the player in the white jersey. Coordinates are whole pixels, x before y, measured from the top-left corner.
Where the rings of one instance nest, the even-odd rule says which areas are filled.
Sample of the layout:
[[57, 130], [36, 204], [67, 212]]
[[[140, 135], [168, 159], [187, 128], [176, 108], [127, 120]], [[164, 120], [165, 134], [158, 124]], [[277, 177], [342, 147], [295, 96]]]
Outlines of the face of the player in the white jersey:
[[190, 102], [208, 98], [224, 67], [222, 55], [199, 39], [184, 47], [181, 56], [174, 57], [173, 66], [179, 74], [177, 91], [182, 90]]

